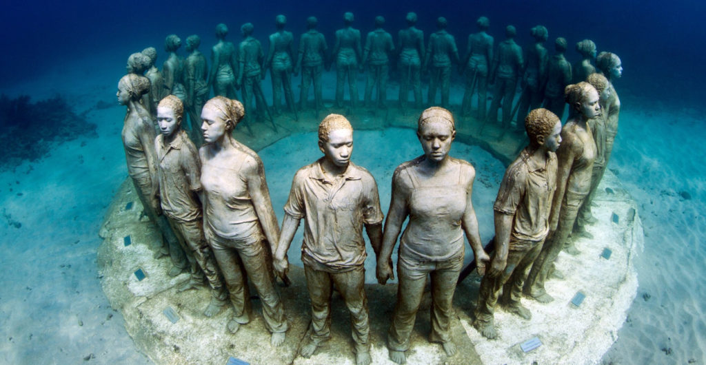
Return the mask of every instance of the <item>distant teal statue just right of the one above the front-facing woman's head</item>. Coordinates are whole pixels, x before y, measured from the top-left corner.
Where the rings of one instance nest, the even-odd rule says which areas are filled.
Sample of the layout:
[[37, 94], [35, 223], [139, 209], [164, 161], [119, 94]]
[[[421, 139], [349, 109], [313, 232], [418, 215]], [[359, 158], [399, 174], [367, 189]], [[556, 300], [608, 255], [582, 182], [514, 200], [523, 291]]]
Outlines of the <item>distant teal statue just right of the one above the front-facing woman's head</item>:
[[486, 118], [488, 100], [488, 69], [493, 60], [493, 37], [488, 35], [490, 20], [481, 16], [476, 20], [478, 32], [468, 36], [468, 47], [461, 66], [465, 73], [466, 91], [463, 94], [462, 114], [469, 116], [474, 90], [478, 91], [479, 120]]

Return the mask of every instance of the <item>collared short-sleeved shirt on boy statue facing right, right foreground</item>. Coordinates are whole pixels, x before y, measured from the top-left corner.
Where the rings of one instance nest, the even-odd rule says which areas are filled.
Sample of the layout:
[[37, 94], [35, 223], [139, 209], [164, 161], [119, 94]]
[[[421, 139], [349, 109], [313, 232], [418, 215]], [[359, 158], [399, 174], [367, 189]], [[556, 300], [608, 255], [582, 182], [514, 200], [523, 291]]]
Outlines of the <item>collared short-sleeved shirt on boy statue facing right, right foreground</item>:
[[551, 199], [556, 190], [556, 154], [547, 152], [546, 163], [538, 166], [527, 149], [510, 164], [493, 210], [515, 216], [510, 233], [510, 248], [530, 249], [532, 242], [544, 240], [549, 233]]

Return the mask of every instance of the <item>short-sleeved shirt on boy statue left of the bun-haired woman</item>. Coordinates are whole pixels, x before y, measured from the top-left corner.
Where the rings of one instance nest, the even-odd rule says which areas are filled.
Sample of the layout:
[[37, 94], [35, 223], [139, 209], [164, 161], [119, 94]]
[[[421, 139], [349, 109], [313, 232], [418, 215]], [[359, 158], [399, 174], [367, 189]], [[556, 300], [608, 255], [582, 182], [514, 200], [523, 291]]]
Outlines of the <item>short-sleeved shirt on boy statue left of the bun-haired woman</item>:
[[201, 190], [201, 162], [196, 146], [184, 130], [179, 130], [169, 144], [164, 144], [163, 135], [157, 135], [155, 149], [162, 211], [177, 221], [200, 219], [201, 204], [196, 192]]

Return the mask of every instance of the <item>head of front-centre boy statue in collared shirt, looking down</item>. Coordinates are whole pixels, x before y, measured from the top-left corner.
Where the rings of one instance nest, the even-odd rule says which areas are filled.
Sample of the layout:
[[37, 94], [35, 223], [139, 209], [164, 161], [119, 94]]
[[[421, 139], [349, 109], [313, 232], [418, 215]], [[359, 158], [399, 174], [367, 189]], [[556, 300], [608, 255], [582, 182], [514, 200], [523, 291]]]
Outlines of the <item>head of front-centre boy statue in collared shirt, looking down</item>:
[[329, 114], [318, 125], [318, 149], [338, 167], [348, 165], [353, 152], [353, 127], [345, 116]]

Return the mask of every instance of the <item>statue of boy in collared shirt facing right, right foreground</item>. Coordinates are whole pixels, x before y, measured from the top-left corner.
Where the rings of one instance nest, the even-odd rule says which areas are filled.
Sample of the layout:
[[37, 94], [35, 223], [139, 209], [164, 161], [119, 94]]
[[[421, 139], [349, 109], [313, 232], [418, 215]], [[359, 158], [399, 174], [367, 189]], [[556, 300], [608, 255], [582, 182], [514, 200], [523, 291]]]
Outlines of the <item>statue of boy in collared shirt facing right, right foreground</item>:
[[551, 111], [534, 109], [525, 118], [530, 144], [505, 171], [493, 205], [495, 252], [481, 280], [473, 326], [486, 338], [497, 338], [493, 314], [500, 298], [508, 312], [530, 319], [522, 306], [522, 284], [549, 233], [549, 210], [556, 189], [556, 149], [561, 121]]

